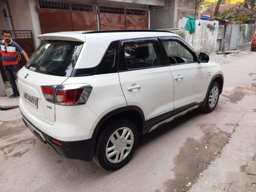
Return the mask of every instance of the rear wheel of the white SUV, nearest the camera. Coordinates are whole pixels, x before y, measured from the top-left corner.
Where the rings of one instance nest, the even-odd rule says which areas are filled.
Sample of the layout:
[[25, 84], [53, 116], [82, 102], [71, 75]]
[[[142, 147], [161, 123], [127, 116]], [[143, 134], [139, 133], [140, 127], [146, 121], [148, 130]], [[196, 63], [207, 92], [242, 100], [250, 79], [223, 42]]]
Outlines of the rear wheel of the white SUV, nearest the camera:
[[138, 130], [130, 119], [112, 121], [97, 139], [94, 162], [106, 170], [117, 170], [129, 162], [137, 143]]

